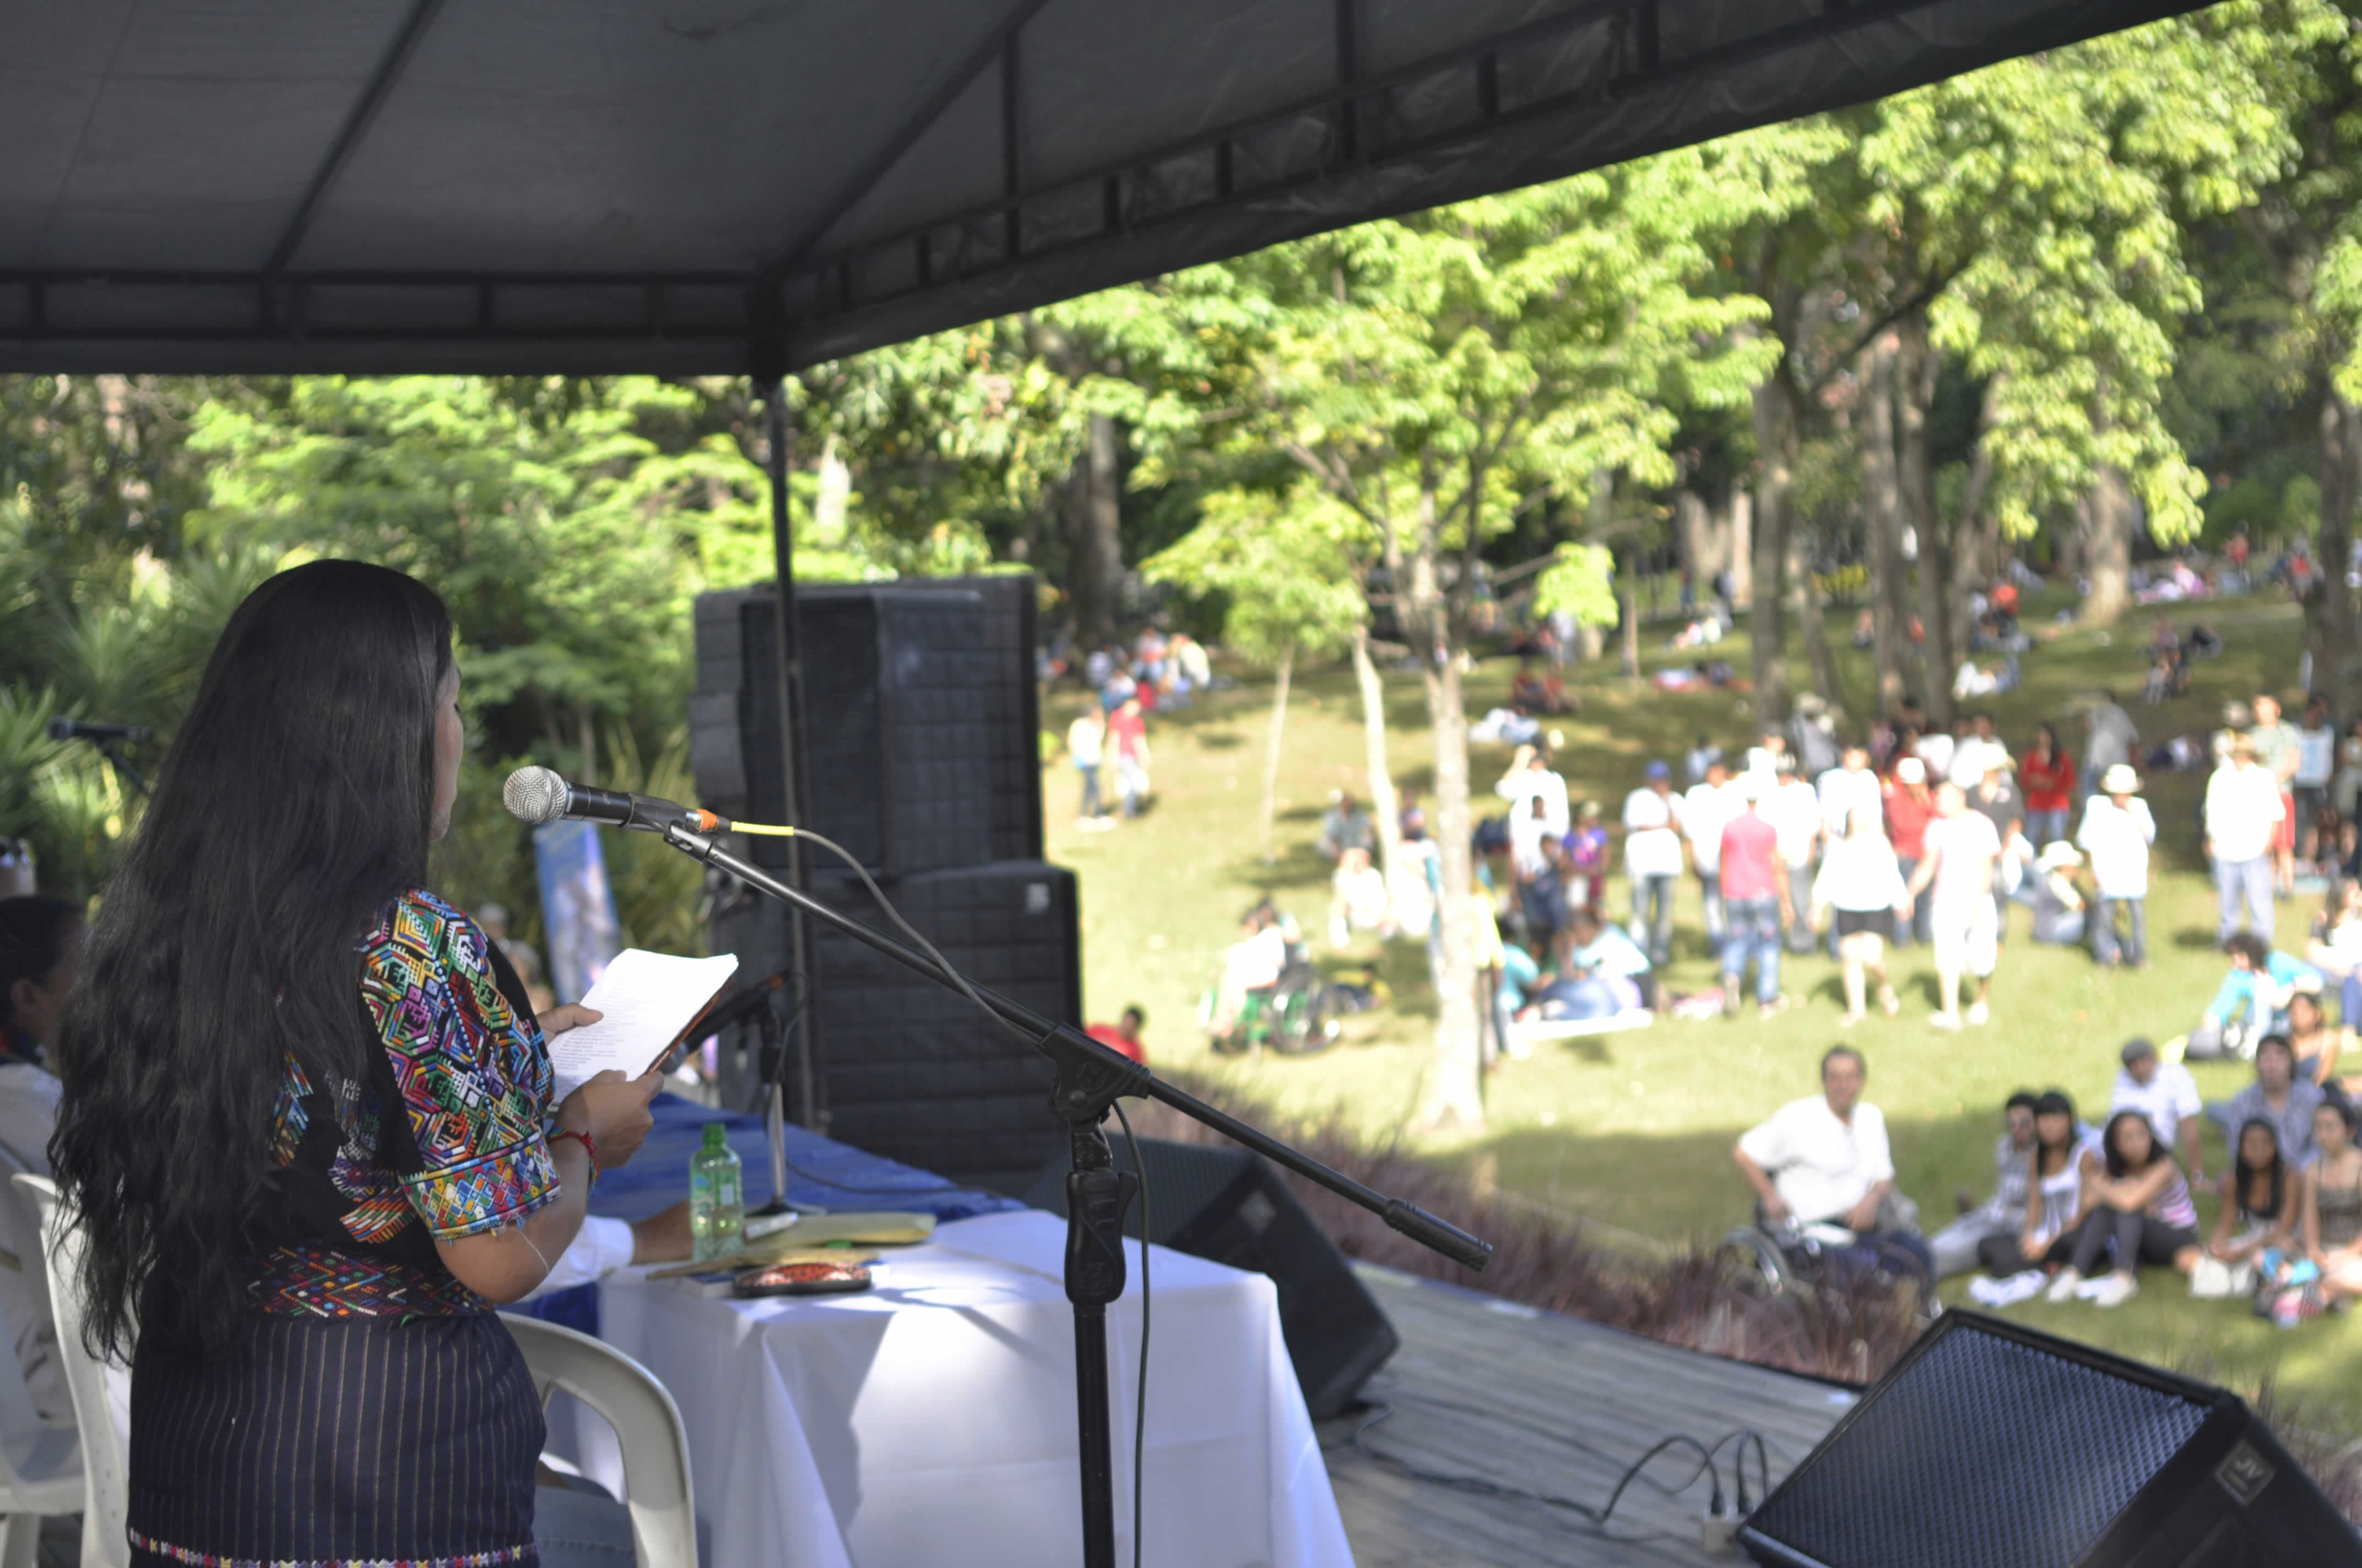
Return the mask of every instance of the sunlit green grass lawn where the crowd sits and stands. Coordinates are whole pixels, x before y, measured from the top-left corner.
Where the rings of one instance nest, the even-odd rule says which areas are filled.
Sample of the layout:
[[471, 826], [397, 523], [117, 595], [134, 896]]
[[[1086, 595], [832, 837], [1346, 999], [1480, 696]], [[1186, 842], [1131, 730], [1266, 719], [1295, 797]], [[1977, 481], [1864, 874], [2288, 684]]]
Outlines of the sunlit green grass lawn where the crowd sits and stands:
[[[2064, 600], [2038, 597], [2027, 609], [2036, 626]], [[2022, 753], [2041, 720], [2060, 725], [2081, 749], [2081, 718], [2069, 701], [2114, 687], [2140, 725], [2142, 741], [2175, 732], [2204, 734], [2220, 704], [2258, 690], [2286, 690], [2296, 675], [2298, 619], [2275, 600], [2234, 600], [2204, 612], [2182, 609], [2175, 623], [2206, 619], [2223, 631], [2225, 656], [2199, 664], [2190, 697], [2161, 708], [2138, 704], [2149, 616], [2109, 633], [2067, 631], [2024, 661], [2024, 687], [1986, 706], [2003, 739]], [[1849, 612], [1831, 614], [1847, 704], [1859, 716], [1873, 690], [1866, 654], [1845, 642]], [[1665, 628], [1670, 631], [1670, 628]], [[1653, 631], [1651, 642], [1663, 642]], [[1746, 638], [1724, 642], [1720, 656], [1748, 668]], [[1646, 668], [1670, 654], [1644, 652]], [[1793, 678], [1809, 685], [1802, 656]], [[1575, 798], [1599, 798], [1611, 817], [1639, 784], [1653, 756], [1677, 758], [1696, 734], [1724, 749], [1746, 744], [1753, 711], [1743, 694], [1658, 694], [1632, 690], [1583, 666], [1573, 682], [1578, 718], [1559, 720], [1559, 767]], [[1486, 661], [1469, 682], [1469, 713], [1493, 706], [1509, 682], [1507, 661]], [[1375, 940], [1327, 949], [1320, 926], [1327, 909], [1327, 864], [1311, 850], [1316, 819], [1330, 789], [1368, 798], [1363, 782], [1361, 708], [1349, 671], [1299, 675], [1280, 758], [1278, 855], [1266, 864], [1257, 836], [1257, 805], [1268, 730], [1268, 687], [1216, 694], [1186, 713], [1153, 723], [1157, 803], [1120, 831], [1075, 831], [1077, 782], [1063, 763], [1044, 772], [1049, 852], [1082, 876], [1084, 994], [1091, 1018], [1113, 1018], [1127, 1001], [1148, 1011], [1150, 1060], [1160, 1067], [1226, 1074], [1290, 1112], [1339, 1110], [1370, 1138], [1398, 1136], [1410, 1119], [1429, 1058], [1434, 997], [1424, 949]], [[1063, 732], [1079, 697], [1058, 694], [1044, 723]], [[1427, 711], [1417, 675], [1386, 678], [1394, 772], [1398, 784], [1429, 796], [1434, 777]], [[1859, 727], [1859, 720], [1857, 720]], [[1507, 763], [1507, 751], [1479, 746], [1472, 775], [1479, 793]], [[1859, 1046], [1871, 1065], [1868, 1098], [1887, 1115], [1904, 1190], [1932, 1223], [1951, 1214], [1958, 1188], [1982, 1197], [1991, 1183], [1991, 1141], [2001, 1100], [2012, 1089], [2064, 1089], [2086, 1115], [2105, 1110], [2116, 1072], [2116, 1046], [2131, 1034], [2182, 1034], [2223, 975], [2213, 952], [2216, 904], [2199, 864], [2197, 801], [2201, 775], [2159, 775], [2147, 796], [2159, 822], [2149, 897], [2147, 973], [2100, 971], [2079, 949], [2036, 949], [2027, 914], [2012, 914], [2012, 940], [1994, 982], [1994, 1023], [1968, 1034], [1925, 1027], [1934, 997], [1927, 949], [1899, 959], [1897, 989], [1904, 1015], [1838, 1027], [1838, 971], [1823, 956], [1788, 959], [1783, 989], [1805, 1006], [1757, 1020], [1677, 1023], [1601, 1039], [1542, 1046], [1531, 1060], [1509, 1063], [1488, 1084], [1488, 1131], [1481, 1138], [1427, 1145], [1438, 1159], [1467, 1162], [1479, 1181], [1557, 1211], [1658, 1240], [1717, 1240], [1746, 1211], [1746, 1193], [1729, 1159], [1731, 1141], [1781, 1100], [1814, 1089], [1814, 1063], [1838, 1039]], [[1353, 1018], [1339, 1048], [1304, 1060], [1257, 1063], [1214, 1058], [1198, 1030], [1198, 999], [1212, 985], [1224, 949], [1235, 940], [1240, 912], [1261, 895], [1292, 909], [1332, 971], [1377, 961], [1391, 980], [1396, 1006]], [[1623, 878], [1609, 883], [1609, 912], [1627, 909]], [[2301, 942], [2310, 909], [2282, 904], [2282, 942]], [[1677, 916], [1675, 989], [1717, 980], [1705, 954], [1698, 900], [1684, 888]], [[2199, 1065], [2208, 1098], [2232, 1093], [2239, 1065]], [[2220, 1148], [2208, 1164], [2220, 1169]], [[2211, 1221], [2213, 1204], [2201, 1200]], [[1958, 1292], [1958, 1282], [1949, 1294]], [[2341, 1315], [2296, 1332], [2251, 1318], [2244, 1304], [2190, 1301], [2180, 1280], [2152, 1273], [2145, 1292], [2102, 1313], [2090, 1306], [2010, 1308], [2043, 1329], [2090, 1339], [2161, 1365], [2253, 1389], [2272, 1377], [2303, 1407], [2348, 1431], [2362, 1431], [2362, 1320]]]

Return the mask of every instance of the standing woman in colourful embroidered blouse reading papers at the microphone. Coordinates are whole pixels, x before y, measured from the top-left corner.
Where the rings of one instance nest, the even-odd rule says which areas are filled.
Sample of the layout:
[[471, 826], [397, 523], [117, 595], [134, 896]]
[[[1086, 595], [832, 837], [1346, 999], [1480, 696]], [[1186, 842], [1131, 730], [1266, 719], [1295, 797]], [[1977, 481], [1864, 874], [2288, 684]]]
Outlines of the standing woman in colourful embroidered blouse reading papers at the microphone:
[[534, 1289], [654, 1074], [550, 1105], [543, 1034], [425, 890], [451, 621], [359, 562], [262, 583], [90, 933], [52, 1164], [132, 1358], [137, 1563], [534, 1561]]

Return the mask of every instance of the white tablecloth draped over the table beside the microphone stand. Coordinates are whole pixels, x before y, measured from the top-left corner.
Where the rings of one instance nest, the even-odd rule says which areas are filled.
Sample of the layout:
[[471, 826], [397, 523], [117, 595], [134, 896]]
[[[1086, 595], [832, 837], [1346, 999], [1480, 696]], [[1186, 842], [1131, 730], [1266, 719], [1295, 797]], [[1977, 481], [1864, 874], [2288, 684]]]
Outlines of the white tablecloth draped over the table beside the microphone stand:
[[[706, 1568], [1079, 1563], [1063, 1249], [1065, 1221], [1027, 1209], [947, 1223], [853, 1296], [602, 1285], [602, 1337], [680, 1403]], [[1129, 1252], [1108, 1308], [1124, 1563], [1141, 1327]], [[1349, 1566], [1271, 1280], [1162, 1247], [1150, 1268], [1146, 1561]], [[586, 1469], [607, 1464], [586, 1452]]]

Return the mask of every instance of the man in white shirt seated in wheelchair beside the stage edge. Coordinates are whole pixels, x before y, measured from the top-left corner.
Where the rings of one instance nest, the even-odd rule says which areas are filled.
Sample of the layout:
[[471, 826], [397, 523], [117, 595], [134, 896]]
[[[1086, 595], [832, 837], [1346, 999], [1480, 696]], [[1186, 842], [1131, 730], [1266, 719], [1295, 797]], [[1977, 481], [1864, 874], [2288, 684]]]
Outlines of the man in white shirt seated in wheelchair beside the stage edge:
[[1821, 1058], [1821, 1093], [1781, 1105], [1741, 1133], [1731, 1159], [1755, 1190], [1757, 1223], [1821, 1256], [1927, 1285], [1934, 1259], [1918, 1204], [1894, 1188], [1885, 1115], [1861, 1098], [1868, 1065], [1849, 1046]]

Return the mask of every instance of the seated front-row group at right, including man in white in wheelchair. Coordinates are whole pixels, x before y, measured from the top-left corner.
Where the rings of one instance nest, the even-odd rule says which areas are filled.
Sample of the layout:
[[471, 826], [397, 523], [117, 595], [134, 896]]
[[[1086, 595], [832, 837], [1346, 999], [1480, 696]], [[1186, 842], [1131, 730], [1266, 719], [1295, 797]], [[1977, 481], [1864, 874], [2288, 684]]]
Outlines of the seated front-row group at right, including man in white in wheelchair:
[[[2121, 1306], [2142, 1268], [2171, 1268], [2201, 1299], [2244, 1299], [2294, 1327], [2362, 1296], [2362, 1145], [2355, 1110], [2296, 1072], [2270, 1034], [2256, 1082], [2201, 1105], [2197, 1079], [2147, 1039], [2126, 1041], [2105, 1119], [2060, 1089], [2017, 1091], [1994, 1138], [1994, 1188], [1960, 1193], [1932, 1235], [1894, 1185], [1885, 1115], [1864, 1098], [1852, 1046], [1821, 1058], [1821, 1091], [1748, 1129], [1731, 1159], [1755, 1221], [1823, 1268], [1883, 1268], [1932, 1287], [1975, 1273], [1968, 1294], [2005, 1308], [2043, 1296]], [[2230, 1157], [2208, 1183], [2199, 1124], [2225, 1129]], [[2216, 1193], [2201, 1228], [2197, 1193]]]

